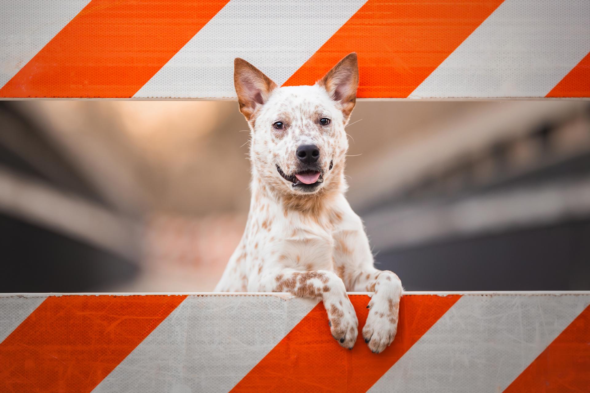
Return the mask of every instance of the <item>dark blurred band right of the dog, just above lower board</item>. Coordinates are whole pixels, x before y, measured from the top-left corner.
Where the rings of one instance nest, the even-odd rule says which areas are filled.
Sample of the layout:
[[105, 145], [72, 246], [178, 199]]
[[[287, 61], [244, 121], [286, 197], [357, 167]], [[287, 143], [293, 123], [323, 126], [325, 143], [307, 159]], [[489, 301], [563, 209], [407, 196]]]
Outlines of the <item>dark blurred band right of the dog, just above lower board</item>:
[[390, 250], [406, 290], [589, 290], [590, 220]]

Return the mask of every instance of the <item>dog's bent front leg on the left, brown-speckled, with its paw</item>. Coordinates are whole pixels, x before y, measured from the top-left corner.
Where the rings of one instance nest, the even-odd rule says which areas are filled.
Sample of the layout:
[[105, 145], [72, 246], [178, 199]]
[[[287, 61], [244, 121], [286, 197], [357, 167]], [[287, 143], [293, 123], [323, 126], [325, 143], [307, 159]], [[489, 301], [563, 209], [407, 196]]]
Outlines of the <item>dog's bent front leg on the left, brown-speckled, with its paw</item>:
[[260, 283], [260, 290], [265, 292], [290, 292], [299, 298], [322, 299], [332, 336], [345, 348], [355, 345], [359, 321], [342, 279], [334, 272], [282, 269], [263, 275]]

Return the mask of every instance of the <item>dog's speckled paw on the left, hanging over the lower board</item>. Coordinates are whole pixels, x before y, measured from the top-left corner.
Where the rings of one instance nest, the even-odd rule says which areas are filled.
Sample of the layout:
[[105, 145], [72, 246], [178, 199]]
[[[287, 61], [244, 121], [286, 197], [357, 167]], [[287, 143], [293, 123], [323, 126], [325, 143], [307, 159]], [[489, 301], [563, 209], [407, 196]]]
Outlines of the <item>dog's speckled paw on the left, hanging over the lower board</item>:
[[356, 318], [355, 308], [350, 303], [346, 294], [340, 299], [329, 302], [324, 301], [328, 313], [330, 331], [332, 337], [338, 341], [340, 346], [352, 349], [358, 335], [359, 321]]

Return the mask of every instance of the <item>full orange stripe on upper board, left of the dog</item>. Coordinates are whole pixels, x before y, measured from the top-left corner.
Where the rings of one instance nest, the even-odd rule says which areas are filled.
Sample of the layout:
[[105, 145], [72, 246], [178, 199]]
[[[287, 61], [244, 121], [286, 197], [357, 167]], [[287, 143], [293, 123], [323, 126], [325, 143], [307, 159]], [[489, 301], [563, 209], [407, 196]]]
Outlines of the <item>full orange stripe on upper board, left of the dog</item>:
[[92, 0], [0, 97], [132, 97], [228, 1]]

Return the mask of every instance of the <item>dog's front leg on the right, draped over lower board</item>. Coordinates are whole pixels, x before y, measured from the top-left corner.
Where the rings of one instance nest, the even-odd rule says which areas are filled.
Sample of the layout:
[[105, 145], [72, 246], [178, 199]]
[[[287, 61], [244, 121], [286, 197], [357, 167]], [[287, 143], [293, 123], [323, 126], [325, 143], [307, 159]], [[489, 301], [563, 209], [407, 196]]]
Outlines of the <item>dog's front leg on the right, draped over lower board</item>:
[[367, 306], [369, 315], [362, 333], [371, 351], [382, 352], [394, 341], [398, 330], [402, 283], [389, 270], [371, 268], [358, 273], [353, 290], [375, 292]]

